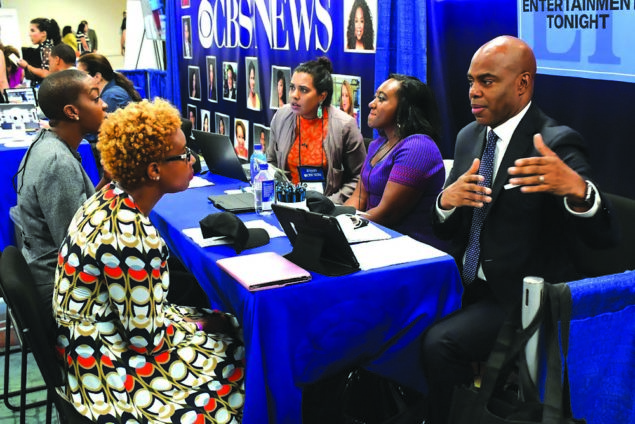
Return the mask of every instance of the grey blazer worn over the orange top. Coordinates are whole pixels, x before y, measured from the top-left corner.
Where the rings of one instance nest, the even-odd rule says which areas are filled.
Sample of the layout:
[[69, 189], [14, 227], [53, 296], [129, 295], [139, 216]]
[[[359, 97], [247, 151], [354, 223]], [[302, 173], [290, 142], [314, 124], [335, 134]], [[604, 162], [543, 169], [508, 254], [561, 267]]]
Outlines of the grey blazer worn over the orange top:
[[[366, 159], [366, 146], [355, 119], [333, 106], [329, 106], [328, 112], [328, 130], [324, 140], [328, 170], [324, 194], [334, 203], [342, 204], [355, 191]], [[271, 120], [267, 161], [277, 168], [287, 167], [287, 156], [295, 141], [296, 116], [291, 106], [286, 104]]]

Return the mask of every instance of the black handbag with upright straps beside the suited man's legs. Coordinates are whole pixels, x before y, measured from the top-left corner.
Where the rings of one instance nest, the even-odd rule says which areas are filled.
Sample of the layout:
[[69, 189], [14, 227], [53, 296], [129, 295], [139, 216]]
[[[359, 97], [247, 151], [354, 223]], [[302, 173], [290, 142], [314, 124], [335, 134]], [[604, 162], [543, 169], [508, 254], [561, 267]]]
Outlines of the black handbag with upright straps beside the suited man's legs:
[[[545, 284], [540, 309], [526, 329], [506, 321], [487, 361], [481, 387], [459, 386], [454, 390], [450, 424], [584, 424], [571, 411], [567, 350], [571, 292], [566, 284]], [[558, 322], [560, 321], [560, 335]], [[546, 347], [546, 380], [544, 400], [538, 388], [528, 378], [524, 348], [540, 328]], [[560, 353], [562, 339], [562, 362]], [[520, 358], [520, 360], [518, 360]], [[523, 387], [522, 398], [517, 390], [505, 387], [515, 366]], [[564, 370], [564, 373], [563, 373]]]

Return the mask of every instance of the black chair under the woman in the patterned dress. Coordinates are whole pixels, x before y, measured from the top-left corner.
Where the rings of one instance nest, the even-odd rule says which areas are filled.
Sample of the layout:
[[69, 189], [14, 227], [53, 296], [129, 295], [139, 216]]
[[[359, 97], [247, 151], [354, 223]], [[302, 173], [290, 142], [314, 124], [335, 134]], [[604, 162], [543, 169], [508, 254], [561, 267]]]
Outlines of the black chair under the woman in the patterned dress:
[[[56, 389], [64, 387], [65, 374], [53, 348], [55, 323], [53, 317], [42, 313], [42, 302], [35, 282], [22, 253], [15, 246], [7, 246], [0, 257], [0, 287], [18, 330], [23, 349], [33, 353], [48, 389], [46, 422], [51, 423], [51, 405], [55, 404], [60, 422], [84, 424], [92, 421], [82, 416], [61, 397]], [[23, 367], [22, 372], [26, 374]], [[25, 405], [26, 393], [21, 393], [20, 405]], [[20, 423], [25, 422], [25, 408], [20, 409]]]

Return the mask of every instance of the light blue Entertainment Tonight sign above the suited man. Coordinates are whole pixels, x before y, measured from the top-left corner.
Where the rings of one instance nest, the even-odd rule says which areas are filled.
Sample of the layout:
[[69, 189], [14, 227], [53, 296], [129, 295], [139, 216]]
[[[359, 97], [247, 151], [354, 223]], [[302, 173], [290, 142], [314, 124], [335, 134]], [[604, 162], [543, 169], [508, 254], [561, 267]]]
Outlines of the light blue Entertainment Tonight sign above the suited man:
[[519, 0], [538, 72], [635, 82], [635, 0]]

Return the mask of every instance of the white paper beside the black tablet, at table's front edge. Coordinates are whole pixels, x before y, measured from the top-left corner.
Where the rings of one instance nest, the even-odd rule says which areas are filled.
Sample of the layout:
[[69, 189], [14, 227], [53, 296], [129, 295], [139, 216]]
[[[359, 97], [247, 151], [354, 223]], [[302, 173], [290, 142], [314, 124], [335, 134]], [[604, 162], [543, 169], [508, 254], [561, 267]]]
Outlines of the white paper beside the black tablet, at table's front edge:
[[351, 245], [363, 270], [438, 258], [447, 253], [408, 236]]

